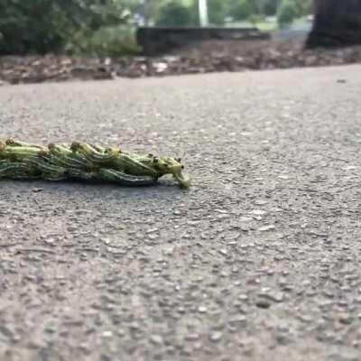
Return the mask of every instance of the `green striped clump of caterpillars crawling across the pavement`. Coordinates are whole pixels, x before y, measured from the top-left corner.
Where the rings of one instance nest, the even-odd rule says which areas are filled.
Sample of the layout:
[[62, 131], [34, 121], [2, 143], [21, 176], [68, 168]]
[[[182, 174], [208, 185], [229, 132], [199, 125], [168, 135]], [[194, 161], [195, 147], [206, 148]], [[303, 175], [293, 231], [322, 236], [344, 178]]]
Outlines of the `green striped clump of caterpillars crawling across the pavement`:
[[145, 186], [171, 174], [180, 187], [188, 188], [190, 179], [181, 174], [183, 168], [179, 158], [127, 153], [117, 147], [78, 142], [41, 146], [13, 139], [0, 142], [0, 179], [88, 180]]

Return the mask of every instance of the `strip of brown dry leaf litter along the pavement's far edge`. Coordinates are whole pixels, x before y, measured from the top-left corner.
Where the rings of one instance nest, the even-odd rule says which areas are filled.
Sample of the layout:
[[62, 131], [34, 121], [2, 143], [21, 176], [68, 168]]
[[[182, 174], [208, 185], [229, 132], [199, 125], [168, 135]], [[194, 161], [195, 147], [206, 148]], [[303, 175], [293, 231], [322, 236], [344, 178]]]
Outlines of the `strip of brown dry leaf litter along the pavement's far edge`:
[[[69, 56], [7, 56], [0, 58], [0, 85], [69, 79], [140, 78], [249, 69], [287, 69], [351, 64], [361, 61], [361, 46], [304, 50], [301, 41], [209, 41], [145, 57], [80, 58]], [[151, 67], [149, 67], [151, 64]]]

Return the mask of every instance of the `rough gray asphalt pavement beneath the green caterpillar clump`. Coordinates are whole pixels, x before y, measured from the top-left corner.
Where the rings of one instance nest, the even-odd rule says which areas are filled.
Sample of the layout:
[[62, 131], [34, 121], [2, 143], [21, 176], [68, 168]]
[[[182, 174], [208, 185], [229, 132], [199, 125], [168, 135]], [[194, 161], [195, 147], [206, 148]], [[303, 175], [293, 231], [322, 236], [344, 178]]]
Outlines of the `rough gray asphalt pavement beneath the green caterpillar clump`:
[[181, 155], [194, 186], [0, 183], [0, 359], [361, 359], [361, 66], [0, 88], [0, 138]]

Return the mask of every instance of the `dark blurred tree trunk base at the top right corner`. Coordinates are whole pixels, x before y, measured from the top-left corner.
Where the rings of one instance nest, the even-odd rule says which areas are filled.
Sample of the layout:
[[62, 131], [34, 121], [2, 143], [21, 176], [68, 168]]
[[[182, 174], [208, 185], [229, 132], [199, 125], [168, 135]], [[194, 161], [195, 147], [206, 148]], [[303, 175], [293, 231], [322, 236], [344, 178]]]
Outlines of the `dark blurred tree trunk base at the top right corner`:
[[361, 44], [360, 0], [314, 0], [314, 6], [308, 48]]

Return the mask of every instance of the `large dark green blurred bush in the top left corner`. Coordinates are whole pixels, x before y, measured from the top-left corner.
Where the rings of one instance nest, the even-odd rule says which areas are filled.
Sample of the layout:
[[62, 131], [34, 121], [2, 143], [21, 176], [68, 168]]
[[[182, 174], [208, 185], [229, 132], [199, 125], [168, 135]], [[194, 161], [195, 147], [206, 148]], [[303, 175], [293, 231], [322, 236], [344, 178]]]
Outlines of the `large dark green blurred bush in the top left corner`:
[[82, 47], [102, 26], [125, 23], [117, 0], [1, 0], [0, 54], [63, 51]]

